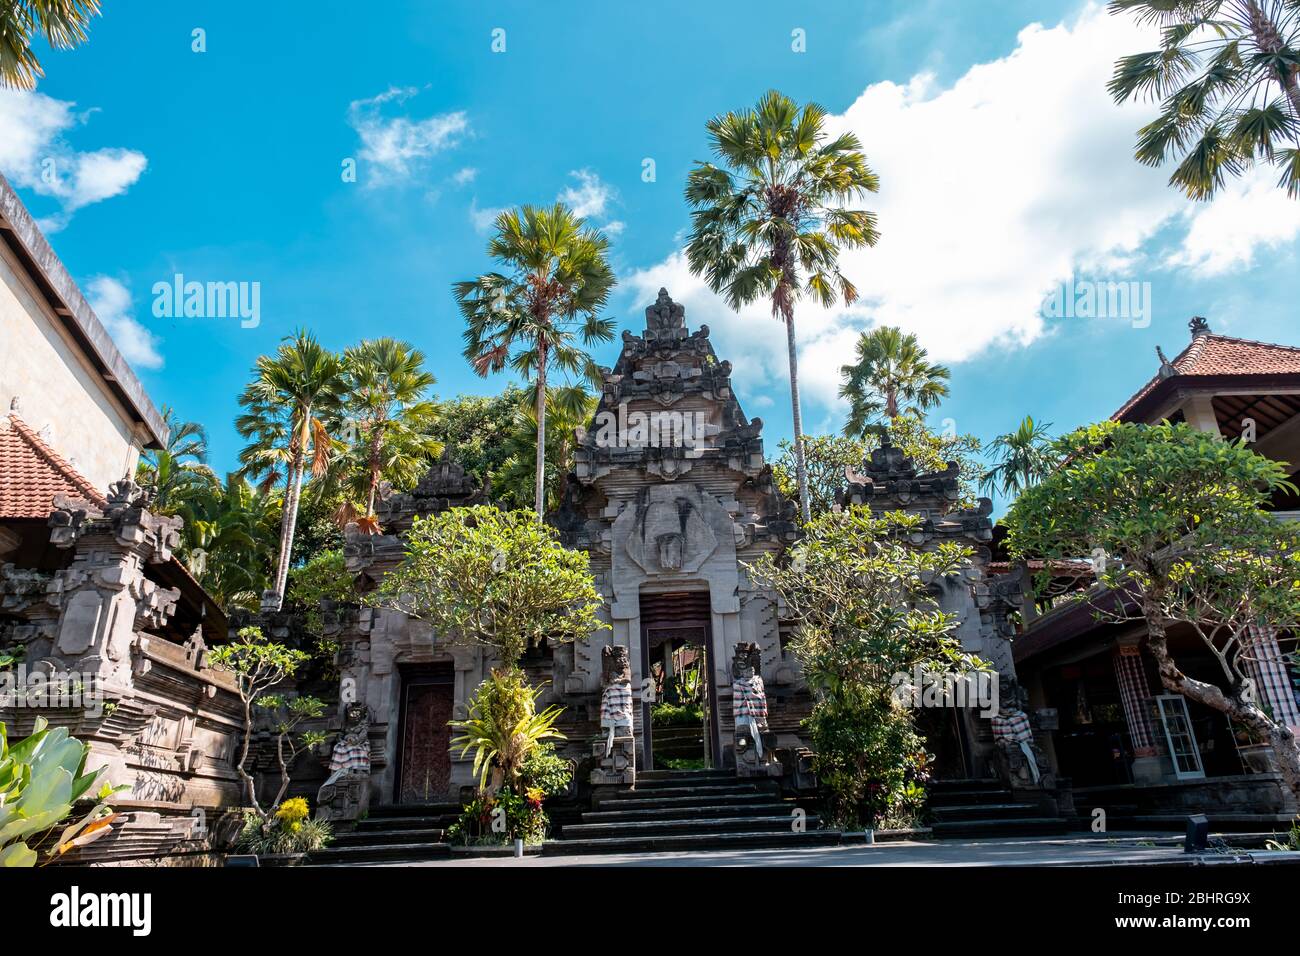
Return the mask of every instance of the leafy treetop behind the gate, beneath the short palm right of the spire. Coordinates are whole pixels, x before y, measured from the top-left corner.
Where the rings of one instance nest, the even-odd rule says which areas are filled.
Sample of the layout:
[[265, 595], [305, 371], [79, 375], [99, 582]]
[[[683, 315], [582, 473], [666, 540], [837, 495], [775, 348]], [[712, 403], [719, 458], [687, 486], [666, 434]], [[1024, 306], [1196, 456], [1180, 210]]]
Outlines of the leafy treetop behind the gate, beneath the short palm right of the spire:
[[[922, 472], [939, 472], [949, 462], [957, 462], [961, 468], [961, 498], [958, 507], [971, 507], [976, 503], [978, 488], [974, 476], [979, 473], [976, 455], [979, 440], [970, 434], [946, 434], [932, 432], [926, 423], [911, 415], [894, 419], [889, 429], [893, 444], [915, 462]], [[858, 470], [871, 453], [880, 446], [880, 436], [868, 432], [863, 438], [848, 438], [835, 434], [806, 436], [803, 441], [807, 464], [809, 499], [812, 515], [818, 516], [835, 507], [836, 496], [844, 490], [848, 479], [845, 468]], [[789, 441], [777, 445], [780, 454], [772, 462], [772, 476], [781, 494], [793, 498], [797, 494], [794, 450]]]

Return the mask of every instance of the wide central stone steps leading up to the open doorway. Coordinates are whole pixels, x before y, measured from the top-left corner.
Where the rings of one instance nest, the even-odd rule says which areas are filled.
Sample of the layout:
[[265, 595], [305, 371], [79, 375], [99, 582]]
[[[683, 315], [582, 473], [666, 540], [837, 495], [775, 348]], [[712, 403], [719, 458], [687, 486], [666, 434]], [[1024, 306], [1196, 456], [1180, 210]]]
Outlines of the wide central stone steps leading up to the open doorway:
[[650, 770], [636, 790], [595, 797], [581, 822], [562, 827], [546, 855], [632, 853], [755, 847], [822, 847], [838, 831], [818, 830], [818, 818], [793, 829], [794, 800], [772, 780], [745, 780], [732, 770]]

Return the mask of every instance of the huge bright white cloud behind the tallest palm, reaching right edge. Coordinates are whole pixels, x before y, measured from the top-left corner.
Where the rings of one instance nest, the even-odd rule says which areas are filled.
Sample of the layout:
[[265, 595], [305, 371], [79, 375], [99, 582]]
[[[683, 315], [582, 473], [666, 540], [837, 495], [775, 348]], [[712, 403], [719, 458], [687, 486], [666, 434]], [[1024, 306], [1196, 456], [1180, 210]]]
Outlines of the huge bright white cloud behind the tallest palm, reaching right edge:
[[[829, 117], [833, 133], [858, 134], [880, 174], [880, 194], [863, 206], [880, 215], [881, 241], [841, 255], [857, 306], [798, 308], [810, 401], [838, 403], [840, 365], [874, 324], [915, 332], [933, 359], [961, 362], [1041, 336], [1044, 294], [1078, 271], [1144, 280], [1140, 269], [1173, 261], [1210, 273], [1300, 232], [1297, 204], [1280, 190], [1247, 181], [1192, 204], [1166, 185], [1167, 169], [1134, 160], [1135, 133], [1156, 107], [1119, 107], [1105, 87], [1119, 56], [1152, 47], [1131, 18], [1092, 4], [1072, 23], [1027, 26], [1011, 53], [952, 86], [930, 74], [874, 83]], [[1170, 225], [1186, 234], [1161, 263], [1150, 241]], [[680, 254], [629, 284], [646, 302], [667, 286], [692, 325], [718, 332], [724, 358], [744, 362], [751, 378], [785, 380], [784, 330], [764, 303], [733, 313]]]

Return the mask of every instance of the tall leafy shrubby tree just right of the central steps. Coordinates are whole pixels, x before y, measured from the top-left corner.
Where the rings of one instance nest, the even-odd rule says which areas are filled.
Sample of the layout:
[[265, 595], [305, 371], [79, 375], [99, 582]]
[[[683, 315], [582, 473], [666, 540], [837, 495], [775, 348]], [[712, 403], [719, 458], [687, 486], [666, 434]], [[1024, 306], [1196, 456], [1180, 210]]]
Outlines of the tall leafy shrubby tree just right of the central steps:
[[841, 826], [872, 825], [919, 800], [926, 758], [896, 704], [897, 675], [983, 667], [930, 591], [933, 579], [959, 572], [971, 550], [911, 544], [923, 520], [866, 507], [823, 514], [784, 558], [764, 554], [750, 568], [796, 622], [790, 648], [815, 695], [814, 762], [828, 817]]

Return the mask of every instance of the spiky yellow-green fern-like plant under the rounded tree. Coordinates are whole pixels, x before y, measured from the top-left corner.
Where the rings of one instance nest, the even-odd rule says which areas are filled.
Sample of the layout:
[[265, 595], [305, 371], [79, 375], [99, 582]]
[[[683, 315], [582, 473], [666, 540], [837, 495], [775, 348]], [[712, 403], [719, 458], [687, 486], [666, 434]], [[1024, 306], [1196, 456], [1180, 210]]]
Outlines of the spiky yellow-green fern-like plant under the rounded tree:
[[563, 708], [537, 711], [543, 687], [529, 687], [519, 670], [494, 670], [469, 701], [469, 715], [451, 721], [460, 734], [451, 739], [460, 756], [473, 750], [478, 790], [495, 793], [502, 787], [521, 793], [520, 778], [529, 754], [547, 739], [563, 739], [555, 721]]

